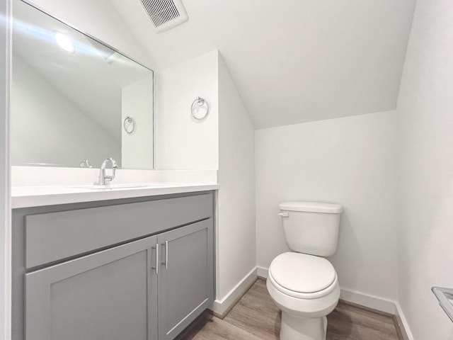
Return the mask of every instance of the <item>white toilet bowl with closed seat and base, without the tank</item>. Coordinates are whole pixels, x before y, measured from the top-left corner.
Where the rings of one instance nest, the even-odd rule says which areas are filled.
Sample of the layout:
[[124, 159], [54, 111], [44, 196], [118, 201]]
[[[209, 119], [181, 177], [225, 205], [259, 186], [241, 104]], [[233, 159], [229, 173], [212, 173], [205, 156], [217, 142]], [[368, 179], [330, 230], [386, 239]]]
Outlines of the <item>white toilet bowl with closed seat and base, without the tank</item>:
[[282, 310], [280, 340], [325, 340], [327, 318], [340, 298], [332, 264], [322, 257], [287, 252], [270, 264], [268, 292]]

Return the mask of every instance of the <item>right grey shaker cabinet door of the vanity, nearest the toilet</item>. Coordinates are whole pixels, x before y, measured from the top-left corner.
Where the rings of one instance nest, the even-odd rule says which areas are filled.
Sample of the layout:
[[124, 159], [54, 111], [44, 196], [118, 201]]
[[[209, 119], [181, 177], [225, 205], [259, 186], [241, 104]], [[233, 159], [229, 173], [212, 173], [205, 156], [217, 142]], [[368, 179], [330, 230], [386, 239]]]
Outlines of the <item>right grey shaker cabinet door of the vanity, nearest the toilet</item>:
[[212, 219], [158, 235], [159, 340], [174, 339], [214, 299]]

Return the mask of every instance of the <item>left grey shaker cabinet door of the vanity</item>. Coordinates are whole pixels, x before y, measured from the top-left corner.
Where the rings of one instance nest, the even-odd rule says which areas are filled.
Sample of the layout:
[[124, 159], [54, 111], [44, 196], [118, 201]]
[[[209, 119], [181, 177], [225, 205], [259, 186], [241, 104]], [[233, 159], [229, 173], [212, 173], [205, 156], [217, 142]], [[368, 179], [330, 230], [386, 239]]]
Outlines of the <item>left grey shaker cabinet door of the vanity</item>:
[[156, 241], [25, 274], [25, 339], [156, 340]]

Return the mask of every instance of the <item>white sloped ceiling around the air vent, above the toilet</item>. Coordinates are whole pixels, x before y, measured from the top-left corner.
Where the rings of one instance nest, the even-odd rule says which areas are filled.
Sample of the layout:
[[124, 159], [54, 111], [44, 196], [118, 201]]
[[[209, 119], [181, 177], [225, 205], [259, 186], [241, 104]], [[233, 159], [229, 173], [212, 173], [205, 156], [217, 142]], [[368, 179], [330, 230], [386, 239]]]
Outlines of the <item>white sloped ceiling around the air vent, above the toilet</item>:
[[415, 6], [183, 0], [189, 21], [156, 34], [139, 0], [110, 2], [158, 70], [218, 49], [257, 129], [396, 108]]

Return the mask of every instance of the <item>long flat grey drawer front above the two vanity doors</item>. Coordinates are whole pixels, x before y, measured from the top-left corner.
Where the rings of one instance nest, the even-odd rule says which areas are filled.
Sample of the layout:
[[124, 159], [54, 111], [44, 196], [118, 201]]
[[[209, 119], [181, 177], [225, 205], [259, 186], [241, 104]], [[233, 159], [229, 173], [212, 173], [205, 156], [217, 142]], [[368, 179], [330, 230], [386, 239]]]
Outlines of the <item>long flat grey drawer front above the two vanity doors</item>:
[[213, 215], [212, 193], [25, 216], [31, 268]]

